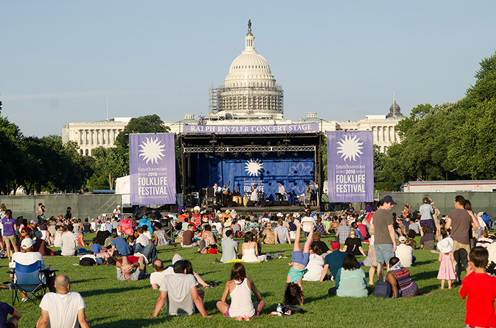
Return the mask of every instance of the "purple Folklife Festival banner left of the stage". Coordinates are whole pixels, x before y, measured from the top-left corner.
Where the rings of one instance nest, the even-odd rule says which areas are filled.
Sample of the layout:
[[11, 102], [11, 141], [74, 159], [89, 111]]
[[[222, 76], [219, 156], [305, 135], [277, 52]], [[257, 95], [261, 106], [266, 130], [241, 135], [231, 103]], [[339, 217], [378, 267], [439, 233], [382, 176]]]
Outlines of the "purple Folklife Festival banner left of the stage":
[[132, 205], [176, 203], [174, 133], [129, 135]]

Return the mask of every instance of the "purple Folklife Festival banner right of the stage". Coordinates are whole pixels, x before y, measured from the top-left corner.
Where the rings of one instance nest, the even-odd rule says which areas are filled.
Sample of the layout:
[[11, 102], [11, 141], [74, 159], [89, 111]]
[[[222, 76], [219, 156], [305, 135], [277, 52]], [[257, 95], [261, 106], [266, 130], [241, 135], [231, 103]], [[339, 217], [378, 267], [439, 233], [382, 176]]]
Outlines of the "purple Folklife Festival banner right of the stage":
[[373, 201], [372, 131], [327, 132], [329, 202]]

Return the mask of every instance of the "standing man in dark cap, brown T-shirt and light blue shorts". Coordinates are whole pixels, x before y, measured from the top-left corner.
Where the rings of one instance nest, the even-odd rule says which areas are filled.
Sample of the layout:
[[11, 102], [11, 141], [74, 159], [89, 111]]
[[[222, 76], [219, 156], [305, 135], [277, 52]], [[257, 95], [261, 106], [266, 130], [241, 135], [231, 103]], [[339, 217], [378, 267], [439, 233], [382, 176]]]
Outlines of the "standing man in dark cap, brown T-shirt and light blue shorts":
[[389, 260], [395, 256], [396, 251], [396, 237], [393, 227], [394, 219], [390, 210], [393, 209], [393, 197], [385, 196], [379, 200], [378, 210], [373, 214], [373, 227], [374, 232], [374, 249], [376, 251], [377, 259], [377, 273], [379, 281], [383, 280], [383, 264], [388, 264]]

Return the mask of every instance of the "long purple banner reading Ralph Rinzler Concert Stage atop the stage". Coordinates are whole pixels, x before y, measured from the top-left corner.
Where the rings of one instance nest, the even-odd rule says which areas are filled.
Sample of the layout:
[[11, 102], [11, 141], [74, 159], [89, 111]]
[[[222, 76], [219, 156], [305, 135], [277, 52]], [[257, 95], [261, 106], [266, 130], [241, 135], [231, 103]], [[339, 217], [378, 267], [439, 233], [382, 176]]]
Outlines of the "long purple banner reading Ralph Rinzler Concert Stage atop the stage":
[[281, 125], [183, 125], [184, 133], [284, 133], [284, 132], [315, 132], [320, 131], [318, 122], [296, 123]]

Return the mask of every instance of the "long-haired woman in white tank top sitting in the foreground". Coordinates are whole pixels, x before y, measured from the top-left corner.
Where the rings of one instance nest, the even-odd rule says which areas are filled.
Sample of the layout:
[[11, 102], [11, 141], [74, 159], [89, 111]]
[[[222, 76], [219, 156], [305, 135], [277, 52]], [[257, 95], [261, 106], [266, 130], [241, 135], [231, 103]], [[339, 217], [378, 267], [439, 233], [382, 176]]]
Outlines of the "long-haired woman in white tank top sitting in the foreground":
[[[252, 303], [252, 292], [257, 298], [256, 303]], [[231, 305], [227, 304], [227, 294], [231, 297]], [[217, 308], [224, 317], [236, 318], [249, 321], [250, 317], [260, 315], [264, 310], [265, 301], [261, 299], [261, 295], [252, 279], [247, 278], [247, 273], [243, 264], [235, 263], [231, 268], [230, 281], [225, 283], [222, 300], [217, 302]]]

